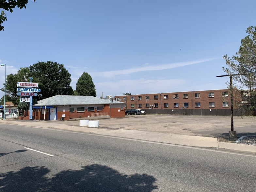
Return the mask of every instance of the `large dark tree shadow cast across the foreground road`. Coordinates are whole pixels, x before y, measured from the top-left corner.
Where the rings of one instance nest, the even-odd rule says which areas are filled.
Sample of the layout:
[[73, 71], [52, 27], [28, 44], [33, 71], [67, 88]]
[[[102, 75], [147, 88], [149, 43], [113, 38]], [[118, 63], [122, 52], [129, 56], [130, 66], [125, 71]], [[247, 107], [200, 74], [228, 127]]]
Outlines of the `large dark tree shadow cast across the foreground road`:
[[158, 189], [151, 175], [127, 175], [98, 164], [81, 167], [81, 170], [60, 171], [48, 178], [50, 172], [46, 167], [37, 166], [0, 173], [0, 191], [150, 192]]

